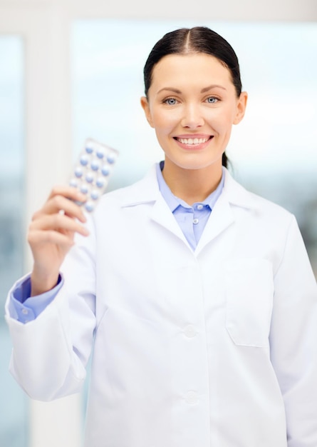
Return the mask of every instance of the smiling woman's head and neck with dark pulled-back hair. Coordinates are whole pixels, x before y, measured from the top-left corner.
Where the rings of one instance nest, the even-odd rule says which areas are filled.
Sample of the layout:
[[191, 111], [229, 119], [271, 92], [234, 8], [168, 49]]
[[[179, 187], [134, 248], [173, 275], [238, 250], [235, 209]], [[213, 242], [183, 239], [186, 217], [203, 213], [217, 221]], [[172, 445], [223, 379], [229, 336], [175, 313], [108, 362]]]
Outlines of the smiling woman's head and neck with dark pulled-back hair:
[[[232, 124], [244, 117], [239, 62], [224, 42], [208, 28], [180, 29], [158, 41], [145, 64], [141, 104], [165, 152], [165, 181], [187, 203], [206, 199], [219, 184]], [[187, 191], [181, 191], [179, 169], [187, 170], [181, 174]], [[207, 184], [201, 171], [200, 180], [194, 179], [196, 169], [204, 169]]]

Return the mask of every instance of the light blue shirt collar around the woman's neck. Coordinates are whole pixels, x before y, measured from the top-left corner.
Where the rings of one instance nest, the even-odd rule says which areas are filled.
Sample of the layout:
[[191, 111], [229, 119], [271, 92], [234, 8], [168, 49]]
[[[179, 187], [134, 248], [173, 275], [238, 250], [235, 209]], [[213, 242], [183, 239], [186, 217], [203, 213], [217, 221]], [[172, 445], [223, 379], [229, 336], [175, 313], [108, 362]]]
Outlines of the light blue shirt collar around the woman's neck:
[[[172, 212], [177, 209], [178, 206], [182, 206], [183, 208], [192, 208], [192, 206], [189, 206], [185, 201], [182, 199], [179, 199], [178, 197], [174, 196], [172, 194], [172, 191], [167, 186], [167, 183], [162, 175], [162, 169], [164, 167], [164, 161], [161, 161], [156, 165], [156, 175], [157, 175], [157, 183], [160, 189], [160, 192], [162, 196], [164, 197], [167, 205], [169, 206], [170, 210]], [[219, 196], [222, 194], [222, 189], [224, 187], [224, 169], [222, 169], [222, 179], [217, 186], [217, 189], [212, 191], [212, 194], [209, 194], [209, 196], [204, 199], [204, 201], [199, 202], [199, 204], [202, 205], [208, 205], [210, 209], [214, 207], [214, 204], [217, 202], [217, 199], [219, 199]]]

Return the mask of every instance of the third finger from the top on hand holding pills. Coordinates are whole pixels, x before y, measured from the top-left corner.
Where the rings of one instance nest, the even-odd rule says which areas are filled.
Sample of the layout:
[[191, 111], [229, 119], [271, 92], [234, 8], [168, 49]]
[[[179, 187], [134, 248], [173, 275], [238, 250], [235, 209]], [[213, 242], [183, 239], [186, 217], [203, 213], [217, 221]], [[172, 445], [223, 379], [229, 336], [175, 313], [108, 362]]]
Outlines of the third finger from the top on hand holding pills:
[[76, 219], [73, 219], [66, 214], [43, 214], [38, 219], [31, 222], [29, 231], [71, 231], [73, 233], [80, 233], [82, 236], [88, 236], [89, 231], [85, 226], [81, 225]]

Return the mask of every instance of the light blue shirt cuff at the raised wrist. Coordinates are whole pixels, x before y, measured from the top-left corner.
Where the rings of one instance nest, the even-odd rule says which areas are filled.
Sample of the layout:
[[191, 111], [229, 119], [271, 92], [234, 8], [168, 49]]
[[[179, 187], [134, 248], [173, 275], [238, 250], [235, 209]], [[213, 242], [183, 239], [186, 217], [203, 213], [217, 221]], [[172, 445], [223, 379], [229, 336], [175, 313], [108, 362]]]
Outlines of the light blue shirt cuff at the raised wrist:
[[21, 323], [28, 323], [34, 320], [51, 301], [56, 297], [58, 291], [63, 286], [64, 280], [58, 276], [58, 282], [51, 290], [41, 293], [41, 295], [31, 295], [31, 277], [24, 278], [16, 284], [16, 288], [11, 292], [9, 311], [11, 318], [15, 318]]

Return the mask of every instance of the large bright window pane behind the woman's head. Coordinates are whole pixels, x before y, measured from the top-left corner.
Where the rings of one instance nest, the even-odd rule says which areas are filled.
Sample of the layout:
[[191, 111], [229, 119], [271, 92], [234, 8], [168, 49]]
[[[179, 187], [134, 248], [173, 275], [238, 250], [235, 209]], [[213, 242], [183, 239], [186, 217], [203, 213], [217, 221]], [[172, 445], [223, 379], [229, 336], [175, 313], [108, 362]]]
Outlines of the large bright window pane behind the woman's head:
[[[143, 89], [140, 67], [150, 52], [151, 41], [184, 24], [197, 23], [80, 20], [74, 24], [73, 151], [78, 152], [87, 135], [95, 135], [119, 149], [124, 156], [120, 157], [112, 188], [140, 179], [149, 164], [160, 157], [160, 146], [154, 133], [147, 129], [138, 107]], [[259, 194], [295, 212], [301, 226], [305, 226], [306, 236], [311, 204], [302, 209], [297, 197], [292, 194], [290, 199], [288, 191], [296, 181], [306, 201], [317, 186], [314, 181], [317, 159], [312, 144], [316, 141], [317, 110], [313, 98], [317, 94], [314, 79], [317, 61], [311, 57], [317, 51], [317, 25], [264, 21], [204, 21], [204, 24], [234, 42], [244, 87], [249, 93], [246, 116], [240, 126], [234, 127], [227, 148], [234, 174]], [[128, 79], [124, 76], [127, 72]], [[300, 109], [300, 114], [294, 112], [294, 86], [296, 110]], [[130, 111], [129, 118], [124, 120], [124, 131], [123, 104], [125, 114]], [[290, 131], [299, 127], [300, 132]], [[311, 163], [307, 164], [307, 159]], [[298, 170], [306, 172], [306, 181], [295, 179]], [[271, 183], [267, 181], [267, 171], [274, 174]], [[306, 241], [317, 244], [317, 234], [309, 230]]]

